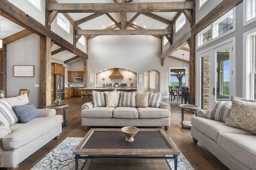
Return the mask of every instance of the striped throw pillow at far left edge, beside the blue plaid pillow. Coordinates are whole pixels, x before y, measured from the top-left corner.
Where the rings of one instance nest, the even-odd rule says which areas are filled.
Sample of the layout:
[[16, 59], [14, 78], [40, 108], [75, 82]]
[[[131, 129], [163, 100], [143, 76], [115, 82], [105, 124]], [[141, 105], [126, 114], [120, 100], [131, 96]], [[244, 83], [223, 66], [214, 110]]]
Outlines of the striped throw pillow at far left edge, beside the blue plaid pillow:
[[0, 99], [0, 125], [10, 127], [18, 122], [12, 107], [8, 100]]

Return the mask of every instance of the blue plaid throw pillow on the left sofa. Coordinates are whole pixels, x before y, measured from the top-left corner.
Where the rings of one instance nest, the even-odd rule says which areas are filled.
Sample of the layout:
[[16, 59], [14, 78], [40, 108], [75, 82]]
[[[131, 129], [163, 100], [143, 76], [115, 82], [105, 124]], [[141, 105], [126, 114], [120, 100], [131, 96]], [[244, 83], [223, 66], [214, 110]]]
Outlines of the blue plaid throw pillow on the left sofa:
[[33, 104], [13, 106], [13, 110], [21, 123], [28, 123], [30, 120], [39, 116]]

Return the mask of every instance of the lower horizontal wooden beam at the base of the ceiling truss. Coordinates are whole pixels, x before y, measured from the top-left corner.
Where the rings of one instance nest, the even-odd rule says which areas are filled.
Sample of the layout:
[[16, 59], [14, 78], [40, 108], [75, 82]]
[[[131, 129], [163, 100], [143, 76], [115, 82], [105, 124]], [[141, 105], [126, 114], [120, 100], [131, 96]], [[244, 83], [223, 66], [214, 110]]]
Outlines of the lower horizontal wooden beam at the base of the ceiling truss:
[[76, 35], [163, 35], [171, 34], [170, 29], [78, 29]]

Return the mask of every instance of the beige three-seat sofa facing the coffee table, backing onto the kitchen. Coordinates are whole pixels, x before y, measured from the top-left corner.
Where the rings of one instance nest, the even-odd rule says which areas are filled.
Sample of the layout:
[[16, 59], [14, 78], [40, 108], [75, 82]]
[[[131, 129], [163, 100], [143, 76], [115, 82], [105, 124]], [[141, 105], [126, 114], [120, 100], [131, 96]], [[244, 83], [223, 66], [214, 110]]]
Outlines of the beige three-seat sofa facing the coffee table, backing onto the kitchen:
[[[96, 94], [95, 94], [96, 93]], [[137, 127], [156, 127], [164, 126], [167, 130], [170, 126], [170, 105], [161, 102], [162, 94], [160, 93], [136, 93], [136, 92], [101, 92], [102, 100], [105, 99], [106, 104], [95, 107], [95, 96], [100, 92], [92, 93], [93, 102], [82, 105], [81, 117], [82, 126], [137, 126]], [[135, 94], [134, 94], [135, 93]], [[104, 96], [106, 94], [106, 97]], [[117, 97], [114, 97], [114, 94]], [[123, 94], [123, 95], [122, 95]], [[136, 103], [133, 106], [121, 104], [127, 99], [127, 96], [133, 94], [133, 98], [129, 98], [128, 102]], [[143, 97], [141, 97], [143, 96]], [[153, 97], [154, 96], [154, 97]], [[158, 98], [159, 97], [159, 98]], [[115, 98], [116, 104], [108, 104], [108, 98]], [[153, 104], [154, 99], [158, 98], [158, 104]], [[135, 102], [134, 102], [135, 101]], [[151, 103], [150, 103], [151, 101]], [[95, 102], [96, 103], [96, 102]], [[110, 102], [111, 103], [111, 102]], [[105, 105], [105, 106], [104, 106]], [[156, 106], [157, 105], [157, 106]], [[112, 107], [109, 107], [112, 106]], [[113, 107], [114, 106], [114, 107]], [[141, 107], [144, 106], [144, 107]], [[155, 106], [155, 107], [148, 107]]]

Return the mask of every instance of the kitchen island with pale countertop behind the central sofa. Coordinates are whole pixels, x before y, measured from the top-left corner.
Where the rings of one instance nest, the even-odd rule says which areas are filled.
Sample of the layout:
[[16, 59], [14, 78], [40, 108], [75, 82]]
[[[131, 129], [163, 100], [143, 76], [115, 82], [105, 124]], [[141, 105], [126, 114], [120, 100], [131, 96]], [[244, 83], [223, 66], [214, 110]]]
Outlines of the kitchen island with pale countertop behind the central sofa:
[[112, 90], [119, 90], [122, 92], [134, 92], [134, 91], [137, 91], [137, 88], [136, 87], [127, 87], [127, 88], [96, 87], [96, 88], [79, 88], [78, 90], [81, 90], [81, 98], [82, 98], [82, 94], [87, 94], [88, 98], [90, 98], [92, 90], [95, 90], [97, 92], [105, 92], [105, 91], [112, 91]]

